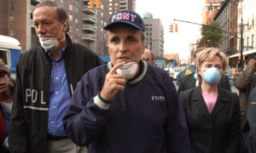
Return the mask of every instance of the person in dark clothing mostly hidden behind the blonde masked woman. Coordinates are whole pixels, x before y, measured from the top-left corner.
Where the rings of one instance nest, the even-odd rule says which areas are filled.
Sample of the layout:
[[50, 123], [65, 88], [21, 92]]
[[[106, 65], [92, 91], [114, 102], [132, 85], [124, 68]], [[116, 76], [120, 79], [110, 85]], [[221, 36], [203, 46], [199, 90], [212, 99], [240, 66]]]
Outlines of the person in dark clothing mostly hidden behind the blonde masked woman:
[[[198, 68], [198, 56], [201, 54], [201, 51], [204, 50], [205, 48], [198, 48], [195, 50], [194, 53], [194, 60], [195, 60], [195, 67], [196, 69]], [[177, 88], [177, 93], [179, 94], [180, 92], [190, 89], [190, 88], [196, 88], [201, 84], [200, 77], [198, 77], [197, 71], [193, 71], [191, 74], [183, 76], [180, 80], [179, 86]], [[230, 88], [230, 82], [229, 82], [229, 77], [226, 76], [224, 73], [222, 73], [222, 76], [220, 78], [220, 81], [218, 82], [218, 86], [220, 88], [227, 89], [231, 91]]]

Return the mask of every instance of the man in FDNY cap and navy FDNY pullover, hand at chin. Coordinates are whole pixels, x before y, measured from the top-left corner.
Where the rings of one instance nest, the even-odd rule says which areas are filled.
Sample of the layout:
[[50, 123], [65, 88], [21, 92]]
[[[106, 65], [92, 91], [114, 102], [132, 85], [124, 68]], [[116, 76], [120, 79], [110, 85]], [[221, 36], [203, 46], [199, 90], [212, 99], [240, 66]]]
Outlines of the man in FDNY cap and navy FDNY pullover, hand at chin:
[[96, 153], [190, 152], [172, 79], [142, 60], [143, 19], [120, 10], [104, 29], [111, 61], [82, 77], [64, 117], [67, 135]]

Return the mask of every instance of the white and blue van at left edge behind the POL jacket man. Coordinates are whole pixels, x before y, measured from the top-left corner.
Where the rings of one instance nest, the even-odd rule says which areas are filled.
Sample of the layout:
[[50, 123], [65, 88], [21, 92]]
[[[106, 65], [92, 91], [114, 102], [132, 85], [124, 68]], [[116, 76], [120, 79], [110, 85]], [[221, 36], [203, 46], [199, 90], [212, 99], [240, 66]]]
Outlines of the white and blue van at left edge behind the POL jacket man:
[[20, 54], [21, 46], [17, 39], [0, 35], [0, 59], [7, 65], [13, 78], [15, 78], [16, 65]]

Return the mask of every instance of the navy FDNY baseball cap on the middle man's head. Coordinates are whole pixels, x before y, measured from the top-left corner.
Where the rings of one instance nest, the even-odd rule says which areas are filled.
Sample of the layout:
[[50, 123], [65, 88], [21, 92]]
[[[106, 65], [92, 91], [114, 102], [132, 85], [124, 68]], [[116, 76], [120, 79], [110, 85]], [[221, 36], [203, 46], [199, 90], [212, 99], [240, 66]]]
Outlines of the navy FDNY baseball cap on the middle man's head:
[[103, 29], [108, 30], [111, 26], [117, 23], [125, 23], [136, 27], [138, 30], [145, 31], [145, 26], [142, 17], [131, 10], [120, 10], [112, 14], [108, 20], [108, 25]]

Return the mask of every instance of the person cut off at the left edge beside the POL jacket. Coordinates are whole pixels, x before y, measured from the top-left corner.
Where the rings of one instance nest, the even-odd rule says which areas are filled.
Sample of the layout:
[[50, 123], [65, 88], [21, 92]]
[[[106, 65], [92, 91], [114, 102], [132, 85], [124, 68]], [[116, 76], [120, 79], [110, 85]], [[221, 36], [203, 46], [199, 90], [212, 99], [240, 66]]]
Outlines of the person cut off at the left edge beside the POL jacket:
[[15, 82], [10, 77], [8, 67], [0, 59], [0, 152], [9, 152], [8, 149], [8, 131], [9, 118], [13, 104], [13, 92]]

